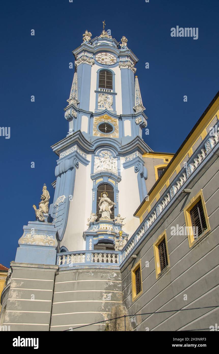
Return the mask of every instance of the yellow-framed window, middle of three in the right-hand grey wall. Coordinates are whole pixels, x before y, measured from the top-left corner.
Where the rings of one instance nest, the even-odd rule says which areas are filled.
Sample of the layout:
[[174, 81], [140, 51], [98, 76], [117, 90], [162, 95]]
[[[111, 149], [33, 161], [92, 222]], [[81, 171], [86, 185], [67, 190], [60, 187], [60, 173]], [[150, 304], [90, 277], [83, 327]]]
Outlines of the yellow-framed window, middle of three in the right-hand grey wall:
[[166, 230], [154, 242], [154, 260], [156, 278], [158, 278], [169, 268], [170, 265]]

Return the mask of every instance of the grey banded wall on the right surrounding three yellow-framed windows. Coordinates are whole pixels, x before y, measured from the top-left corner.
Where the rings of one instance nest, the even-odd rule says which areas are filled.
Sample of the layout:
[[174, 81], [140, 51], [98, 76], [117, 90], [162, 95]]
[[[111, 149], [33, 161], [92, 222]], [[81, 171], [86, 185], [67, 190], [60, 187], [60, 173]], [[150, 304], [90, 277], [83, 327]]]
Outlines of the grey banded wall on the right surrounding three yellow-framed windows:
[[[121, 269], [123, 305], [129, 314], [148, 313], [182, 308], [218, 305], [219, 259], [219, 160], [216, 155], [191, 180], [190, 194], [181, 193], [163, 213], [135, 254]], [[203, 190], [210, 232], [191, 248], [187, 235], [172, 236], [171, 226], [185, 226], [184, 207]], [[156, 279], [153, 244], [166, 230], [170, 268]], [[131, 268], [141, 259], [143, 293], [132, 301]], [[149, 267], [145, 262], [149, 261]], [[184, 295], [187, 295], [187, 301]], [[137, 331], [175, 331], [204, 329], [218, 323], [219, 309], [198, 309], [163, 314], [134, 316], [131, 321]]]

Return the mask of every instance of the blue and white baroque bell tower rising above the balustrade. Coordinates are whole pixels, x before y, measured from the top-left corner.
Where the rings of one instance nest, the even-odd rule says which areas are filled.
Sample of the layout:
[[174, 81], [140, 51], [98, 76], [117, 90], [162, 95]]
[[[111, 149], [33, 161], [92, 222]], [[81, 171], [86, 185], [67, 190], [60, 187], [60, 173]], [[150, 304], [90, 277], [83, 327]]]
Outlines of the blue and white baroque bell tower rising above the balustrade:
[[[63, 251], [91, 250], [104, 241], [114, 247], [119, 235], [127, 240], [139, 225], [133, 213], [147, 194], [142, 155], [151, 149], [142, 139], [147, 117], [134, 78], [138, 59], [125, 36], [121, 41], [105, 30], [91, 39], [86, 30], [73, 51], [75, 74], [64, 109], [69, 130], [52, 146], [59, 160], [50, 214]], [[99, 211], [104, 190], [114, 203], [110, 219]]]

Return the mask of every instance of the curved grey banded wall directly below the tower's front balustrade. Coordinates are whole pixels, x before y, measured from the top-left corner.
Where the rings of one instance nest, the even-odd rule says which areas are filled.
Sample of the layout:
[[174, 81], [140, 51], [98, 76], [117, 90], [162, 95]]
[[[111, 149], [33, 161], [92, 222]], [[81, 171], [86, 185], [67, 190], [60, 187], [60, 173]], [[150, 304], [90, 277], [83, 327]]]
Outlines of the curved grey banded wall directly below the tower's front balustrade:
[[[119, 270], [60, 270], [55, 279], [51, 331], [104, 321], [110, 318], [111, 307], [122, 304]], [[75, 331], [104, 331], [103, 324], [82, 327]]]

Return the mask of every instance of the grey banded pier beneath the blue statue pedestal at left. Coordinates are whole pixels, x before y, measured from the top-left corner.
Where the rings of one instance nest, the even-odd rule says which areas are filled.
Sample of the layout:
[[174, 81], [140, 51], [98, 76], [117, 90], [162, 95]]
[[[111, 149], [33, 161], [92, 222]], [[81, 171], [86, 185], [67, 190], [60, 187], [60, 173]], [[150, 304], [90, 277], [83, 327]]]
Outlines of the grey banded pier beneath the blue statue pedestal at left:
[[10, 325], [11, 331], [48, 331], [58, 266], [11, 263], [11, 267], [10, 289], [2, 294], [2, 324]]

